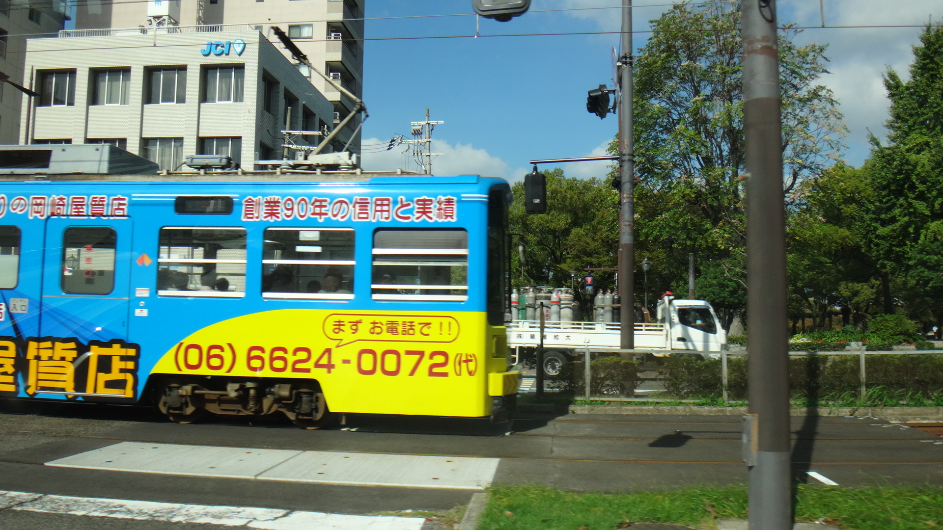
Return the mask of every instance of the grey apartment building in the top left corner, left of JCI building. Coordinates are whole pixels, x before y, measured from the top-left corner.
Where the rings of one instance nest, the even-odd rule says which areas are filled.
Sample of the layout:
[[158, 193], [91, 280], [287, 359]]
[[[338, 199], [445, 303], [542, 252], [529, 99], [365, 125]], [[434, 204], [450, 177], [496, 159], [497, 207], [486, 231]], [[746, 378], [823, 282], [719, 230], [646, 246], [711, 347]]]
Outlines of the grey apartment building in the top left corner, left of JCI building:
[[[20, 86], [29, 85], [29, 75], [24, 75], [26, 39], [55, 37], [65, 11], [64, 1], [0, 0], [0, 73]], [[23, 100], [23, 92], [0, 83], [0, 144], [16, 143]]]

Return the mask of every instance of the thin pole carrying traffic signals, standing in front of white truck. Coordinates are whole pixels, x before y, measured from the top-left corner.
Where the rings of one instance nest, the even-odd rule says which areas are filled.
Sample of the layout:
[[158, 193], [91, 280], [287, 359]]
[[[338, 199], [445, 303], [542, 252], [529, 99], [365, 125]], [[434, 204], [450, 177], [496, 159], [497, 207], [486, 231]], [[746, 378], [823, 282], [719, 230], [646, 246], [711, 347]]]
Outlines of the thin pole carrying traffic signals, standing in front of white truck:
[[620, 223], [619, 223], [619, 297], [620, 348], [636, 347], [636, 297], [635, 297], [635, 138], [632, 130], [632, 0], [622, 0], [622, 57], [620, 57], [619, 100], [619, 172], [620, 172]]

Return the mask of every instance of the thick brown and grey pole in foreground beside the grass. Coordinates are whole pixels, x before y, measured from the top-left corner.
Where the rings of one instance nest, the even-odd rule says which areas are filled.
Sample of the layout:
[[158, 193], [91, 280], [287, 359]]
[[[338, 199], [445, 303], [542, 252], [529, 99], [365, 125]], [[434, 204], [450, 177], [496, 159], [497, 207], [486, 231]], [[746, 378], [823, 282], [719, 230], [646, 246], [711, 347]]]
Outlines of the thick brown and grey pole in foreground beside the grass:
[[775, 0], [742, 0], [750, 530], [790, 530], [786, 213]]

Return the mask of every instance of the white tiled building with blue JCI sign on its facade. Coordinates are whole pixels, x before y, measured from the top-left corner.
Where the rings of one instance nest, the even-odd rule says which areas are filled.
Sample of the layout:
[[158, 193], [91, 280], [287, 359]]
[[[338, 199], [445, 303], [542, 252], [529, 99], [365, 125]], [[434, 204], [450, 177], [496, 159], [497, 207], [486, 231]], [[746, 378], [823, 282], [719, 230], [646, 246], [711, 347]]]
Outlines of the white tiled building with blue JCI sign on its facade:
[[62, 33], [27, 41], [40, 96], [23, 108], [21, 143], [115, 143], [169, 170], [226, 155], [252, 169], [282, 157], [288, 108], [292, 130], [333, 127], [335, 104], [250, 26]]

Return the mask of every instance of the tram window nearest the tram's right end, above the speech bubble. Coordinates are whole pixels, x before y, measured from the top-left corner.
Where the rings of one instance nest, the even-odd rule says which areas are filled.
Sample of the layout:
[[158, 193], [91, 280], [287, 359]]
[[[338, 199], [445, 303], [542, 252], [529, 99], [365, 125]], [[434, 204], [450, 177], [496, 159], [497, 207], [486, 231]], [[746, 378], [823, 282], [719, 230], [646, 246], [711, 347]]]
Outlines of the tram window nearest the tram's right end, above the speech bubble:
[[468, 232], [379, 229], [373, 233], [373, 300], [468, 300]]

